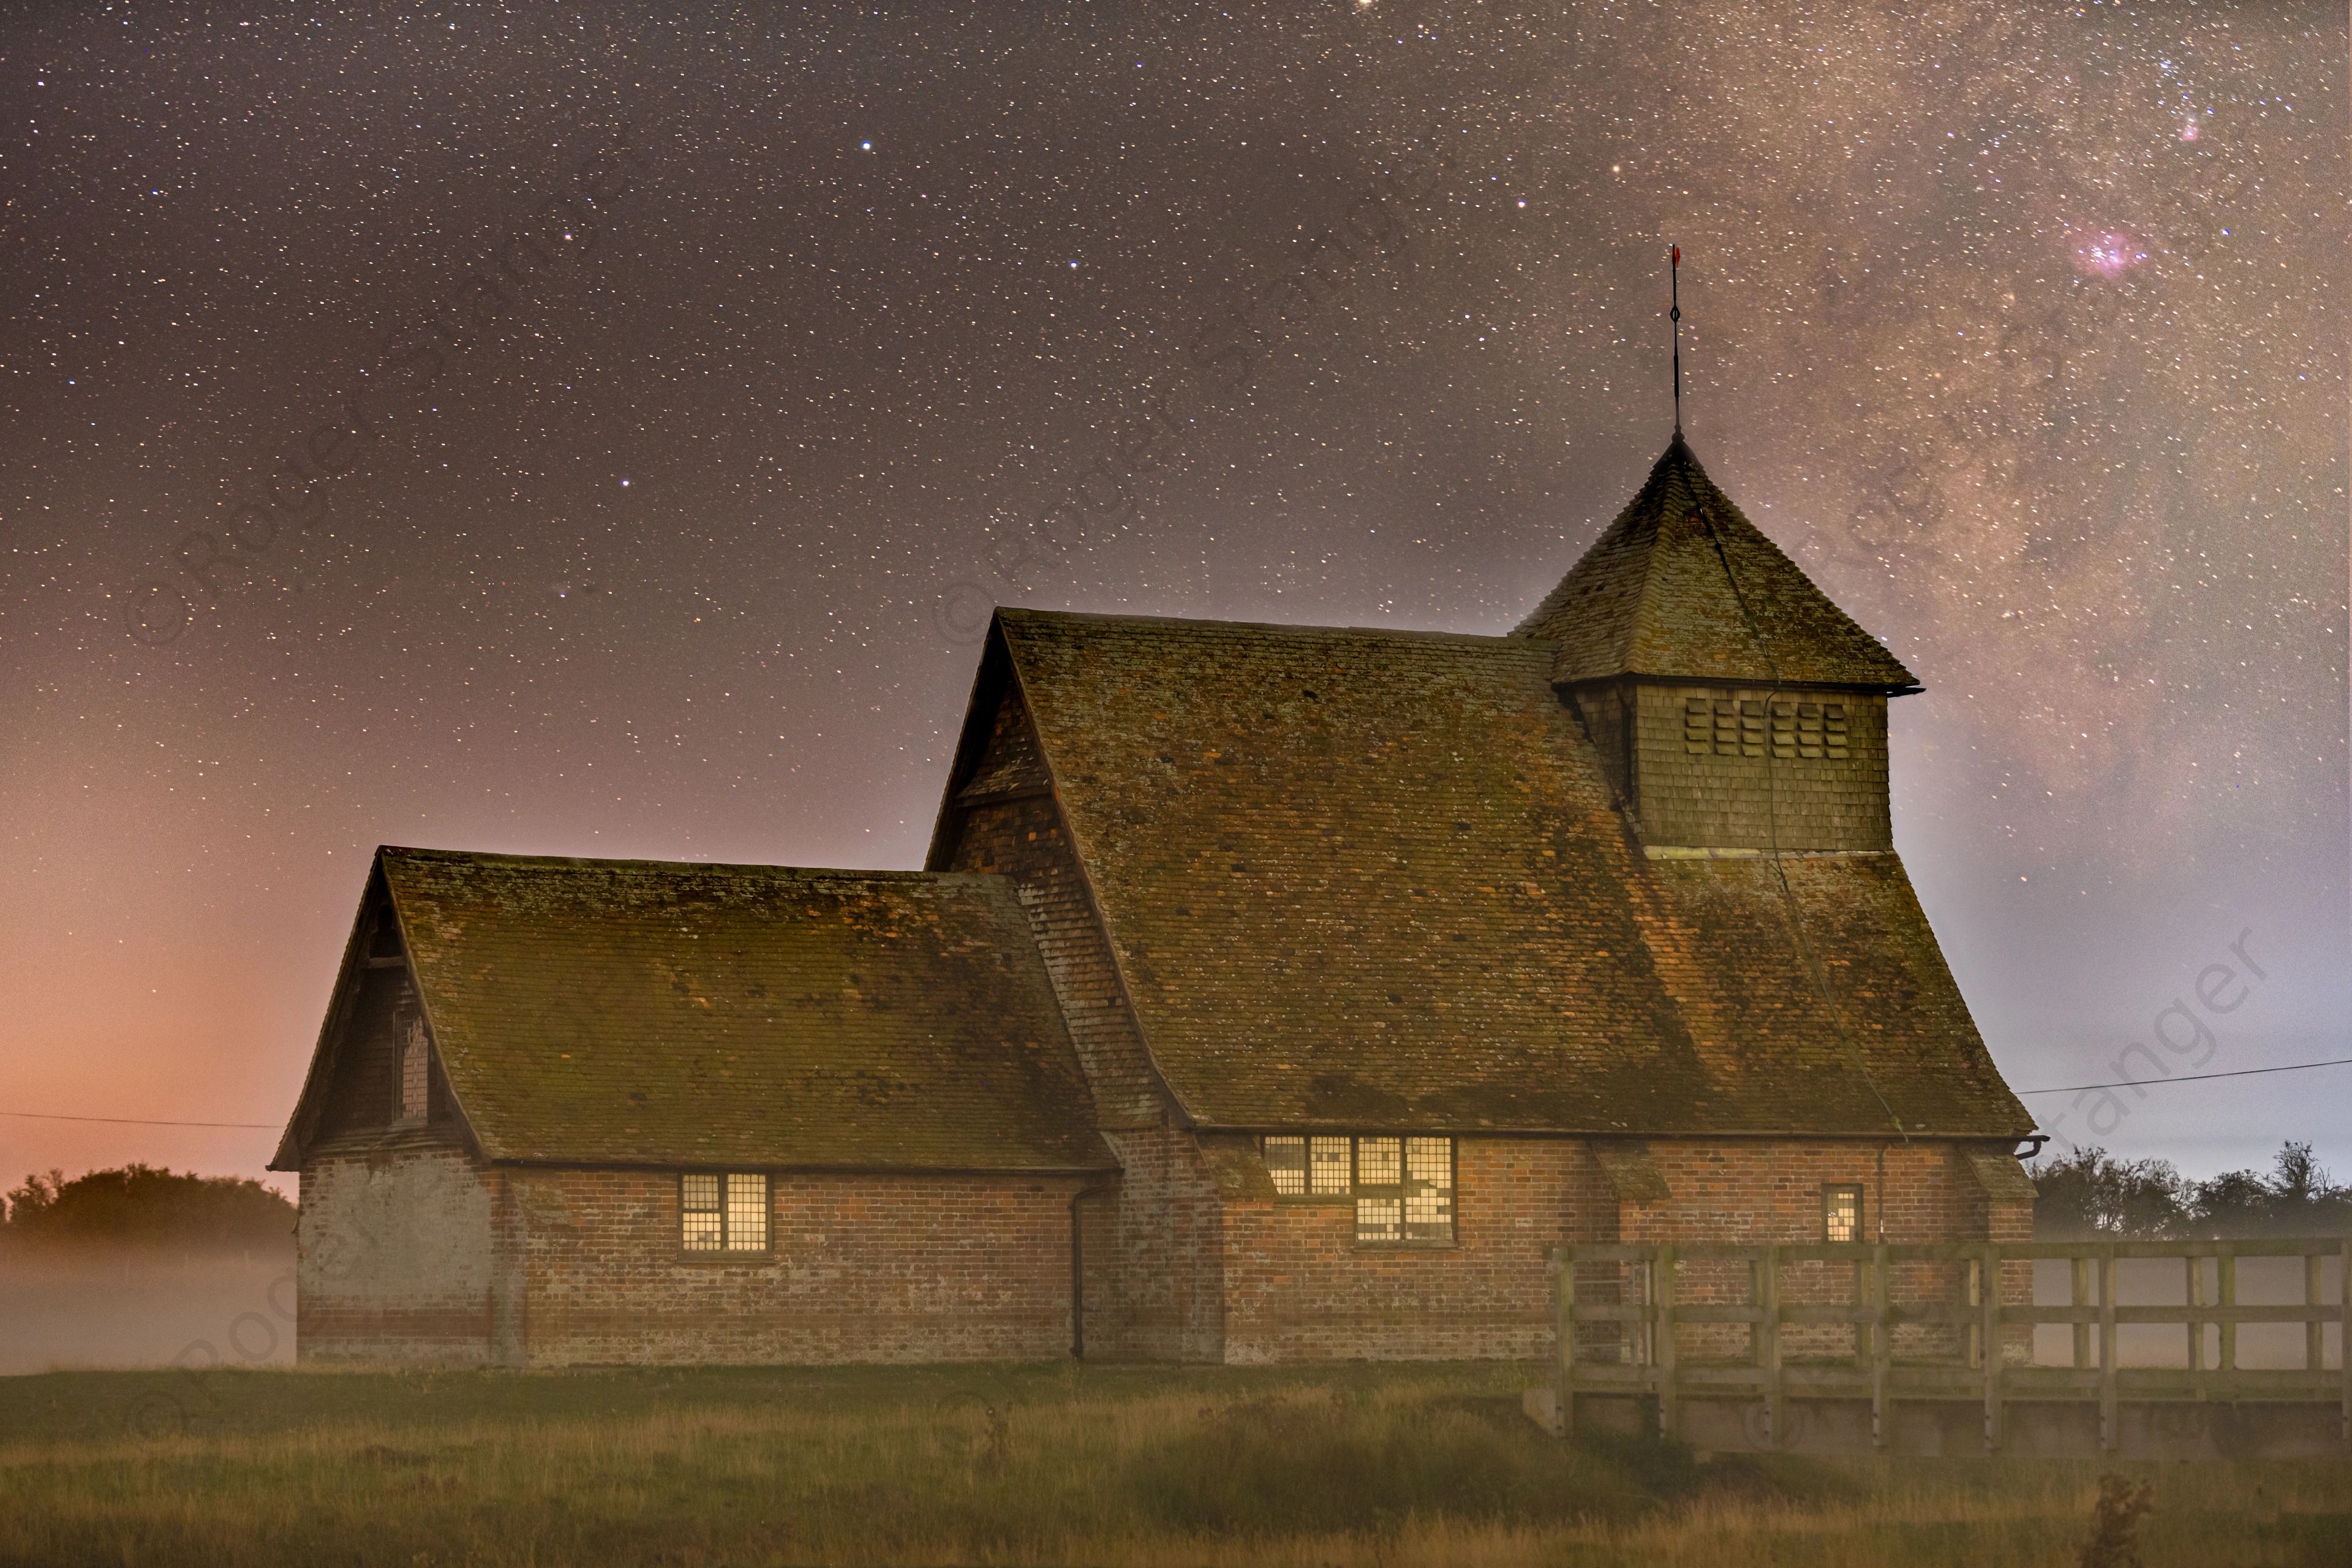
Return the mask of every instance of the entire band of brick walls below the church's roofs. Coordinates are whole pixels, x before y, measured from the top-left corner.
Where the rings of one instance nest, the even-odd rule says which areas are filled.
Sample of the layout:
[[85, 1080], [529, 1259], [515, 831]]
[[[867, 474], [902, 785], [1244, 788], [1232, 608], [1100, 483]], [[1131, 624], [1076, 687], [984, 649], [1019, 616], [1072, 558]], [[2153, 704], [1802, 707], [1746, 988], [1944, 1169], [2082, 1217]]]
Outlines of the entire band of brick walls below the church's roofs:
[[[1110, 1133], [1122, 1175], [1082, 1208], [1087, 1354], [1103, 1361], [1538, 1359], [1562, 1241], [1818, 1241], [1820, 1187], [1865, 1194], [1879, 1147], [1651, 1143], [1668, 1201], [1621, 1204], [1581, 1140], [1465, 1138], [1456, 1246], [1357, 1248], [1350, 1204], [1232, 1187], [1183, 1131]], [[1218, 1166], [1218, 1161], [1225, 1161]], [[1221, 1190], [1221, 1175], [1225, 1190]], [[771, 1253], [687, 1255], [666, 1171], [482, 1171], [456, 1150], [327, 1152], [303, 1171], [299, 1354], [402, 1363], [760, 1363], [1054, 1359], [1070, 1349], [1070, 1197], [1082, 1178], [774, 1175]], [[1889, 1241], [2027, 1239], [1950, 1145], [1889, 1145]], [[2023, 1302], [2030, 1265], [2004, 1267]], [[1599, 1272], [1578, 1276], [1606, 1298]], [[1950, 1300], [1959, 1269], [1903, 1269]], [[1745, 1265], [1684, 1262], [1679, 1300], [1750, 1300]], [[1783, 1300], [1851, 1300], [1851, 1269], [1792, 1265]], [[1745, 1326], [1686, 1326], [1686, 1356], [1743, 1356]], [[1609, 1333], [1583, 1342], [1604, 1354]], [[2016, 1338], [2016, 1335], [2011, 1335]], [[1613, 1340], [1611, 1340], [1613, 1345]], [[1853, 1331], [1783, 1338], [1853, 1354]], [[1907, 1328], [1898, 1354], [1952, 1352]], [[2018, 1354], [2020, 1347], [2006, 1347]]]

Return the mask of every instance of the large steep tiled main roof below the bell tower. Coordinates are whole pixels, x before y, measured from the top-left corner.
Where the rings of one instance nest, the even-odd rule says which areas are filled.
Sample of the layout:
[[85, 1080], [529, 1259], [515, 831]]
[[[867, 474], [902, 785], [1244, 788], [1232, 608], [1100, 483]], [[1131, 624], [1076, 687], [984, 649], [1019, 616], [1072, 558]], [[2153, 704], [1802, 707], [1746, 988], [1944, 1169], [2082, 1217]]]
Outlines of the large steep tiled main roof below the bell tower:
[[[1771, 865], [1649, 860], [1531, 637], [1000, 611], [1152, 1058], [1209, 1126], [1891, 1131]], [[1788, 863], [1912, 1131], [2020, 1135], [1889, 856]]]

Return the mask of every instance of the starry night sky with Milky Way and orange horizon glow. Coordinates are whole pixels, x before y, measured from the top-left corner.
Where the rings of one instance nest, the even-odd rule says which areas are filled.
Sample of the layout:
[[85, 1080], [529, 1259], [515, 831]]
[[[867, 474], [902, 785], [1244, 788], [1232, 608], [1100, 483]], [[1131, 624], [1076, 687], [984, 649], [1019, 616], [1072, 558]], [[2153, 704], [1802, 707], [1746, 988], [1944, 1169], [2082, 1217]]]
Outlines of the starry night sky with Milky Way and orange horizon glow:
[[2352, 1056], [2343, 5], [1230, 9], [12, 12], [0, 1110], [282, 1124], [379, 842], [917, 865], [988, 604], [1508, 630], [1672, 242], [2011, 1084]]

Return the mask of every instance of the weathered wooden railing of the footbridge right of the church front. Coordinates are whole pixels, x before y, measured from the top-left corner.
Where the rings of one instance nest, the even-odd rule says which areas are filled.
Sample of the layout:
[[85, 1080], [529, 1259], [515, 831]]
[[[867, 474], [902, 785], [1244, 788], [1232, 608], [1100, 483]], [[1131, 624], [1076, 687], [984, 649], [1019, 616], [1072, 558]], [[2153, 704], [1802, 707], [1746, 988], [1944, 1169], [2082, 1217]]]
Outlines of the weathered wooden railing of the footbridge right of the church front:
[[[2119, 1265], [2150, 1258], [2180, 1262], [2183, 1300], [2119, 1305]], [[2303, 1302], [2239, 1302], [2237, 1265], [2249, 1258], [2300, 1258]], [[2051, 1260], [2070, 1265], [2067, 1305], [2032, 1305], [2030, 1291], [2016, 1300], [2020, 1272], [2011, 1269], [2004, 1281], [2004, 1265]], [[2338, 1262], [2333, 1302], [2321, 1300], [2326, 1260]], [[1573, 1429], [1583, 1406], [1606, 1425], [1656, 1420], [1668, 1434], [1686, 1434], [1686, 1413], [1705, 1406], [1700, 1427], [1712, 1439], [1738, 1434], [1708, 1446], [1802, 1448], [1809, 1443], [1799, 1441], [1799, 1429], [1811, 1429], [1818, 1434], [1813, 1446], [1846, 1441], [1858, 1448], [1856, 1418], [1867, 1401], [1867, 1448], [1879, 1453], [1919, 1450], [1922, 1441], [1929, 1450], [1950, 1450], [1962, 1403], [1983, 1406], [1985, 1453], [2096, 1446], [2103, 1455], [2140, 1448], [2194, 1458], [2190, 1450], [2225, 1453], [2249, 1443], [2265, 1450], [2286, 1443], [2284, 1450], [2303, 1453], [2324, 1441], [2321, 1434], [2336, 1448], [2352, 1446], [2352, 1356], [2338, 1349], [2338, 1366], [2326, 1366], [2328, 1324], [2352, 1316], [2352, 1239], [2343, 1237], [1576, 1244], [1557, 1248], [1552, 1262], [1557, 1378], [1548, 1399], [1529, 1394], [1529, 1410], [1557, 1432]], [[1795, 1291], [1792, 1272], [1799, 1276]], [[1846, 1300], [1818, 1300], [1844, 1272], [1851, 1272]], [[1738, 1293], [1731, 1286], [1740, 1274], [1745, 1300], [1722, 1300]], [[1686, 1300], [1686, 1284], [1708, 1300]], [[2119, 1366], [2117, 1331], [2145, 1324], [2183, 1331], [2185, 1366]], [[2303, 1366], [2241, 1368], [2241, 1324], [2303, 1324]], [[1724, 1354], [1740, 1326], [1745, 1354]], [[2013, 1363], [2013, 1349], [2023, 1349], [2039, 1326], [2072, 1328], [2072, 1366]], [[1806, 1342], [1792, 1347], [1790, 1328]], [[1851, 1354], [1818, 1354], [1823, 1333], [1835, 1338], [1839, 1328], [1851, 1331]], [[1898, 1338], [1907, 1338], [1915, 1354], [1898, 1356]], [[1698, 1345], [1712, 1345], [1715, 1354], [1693, 1349]], [[2089, 1441], [2093, 1406], [2096, 1443]], [[2032, 1427], [2023, 1446], [2013, 1446], [2018, 1413]], [[2336, 1420], [2321, 1422], [2328, 1413]], [[1898, 1427], [1910, 1429], [1900, 1443]], [[1933, 1436], [1919, 1436], [1926, 1429]], [[2270, 1429], [2288, 1436], [2265, 1436]], [[1835, 1436], [1839, 1432], [1846, 1439]]]

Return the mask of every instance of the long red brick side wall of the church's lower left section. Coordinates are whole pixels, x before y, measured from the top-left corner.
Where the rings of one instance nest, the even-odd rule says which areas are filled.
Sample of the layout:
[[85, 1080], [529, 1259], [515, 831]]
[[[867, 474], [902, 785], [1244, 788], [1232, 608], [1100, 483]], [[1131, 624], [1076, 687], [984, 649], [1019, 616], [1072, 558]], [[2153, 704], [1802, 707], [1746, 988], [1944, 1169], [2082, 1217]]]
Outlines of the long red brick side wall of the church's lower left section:
[[1070, 1354], [1080, 1178], [774, 1175], [771, 1253], [689, 1255], [666, 1171], [515, 1171], [532, 1366]]

